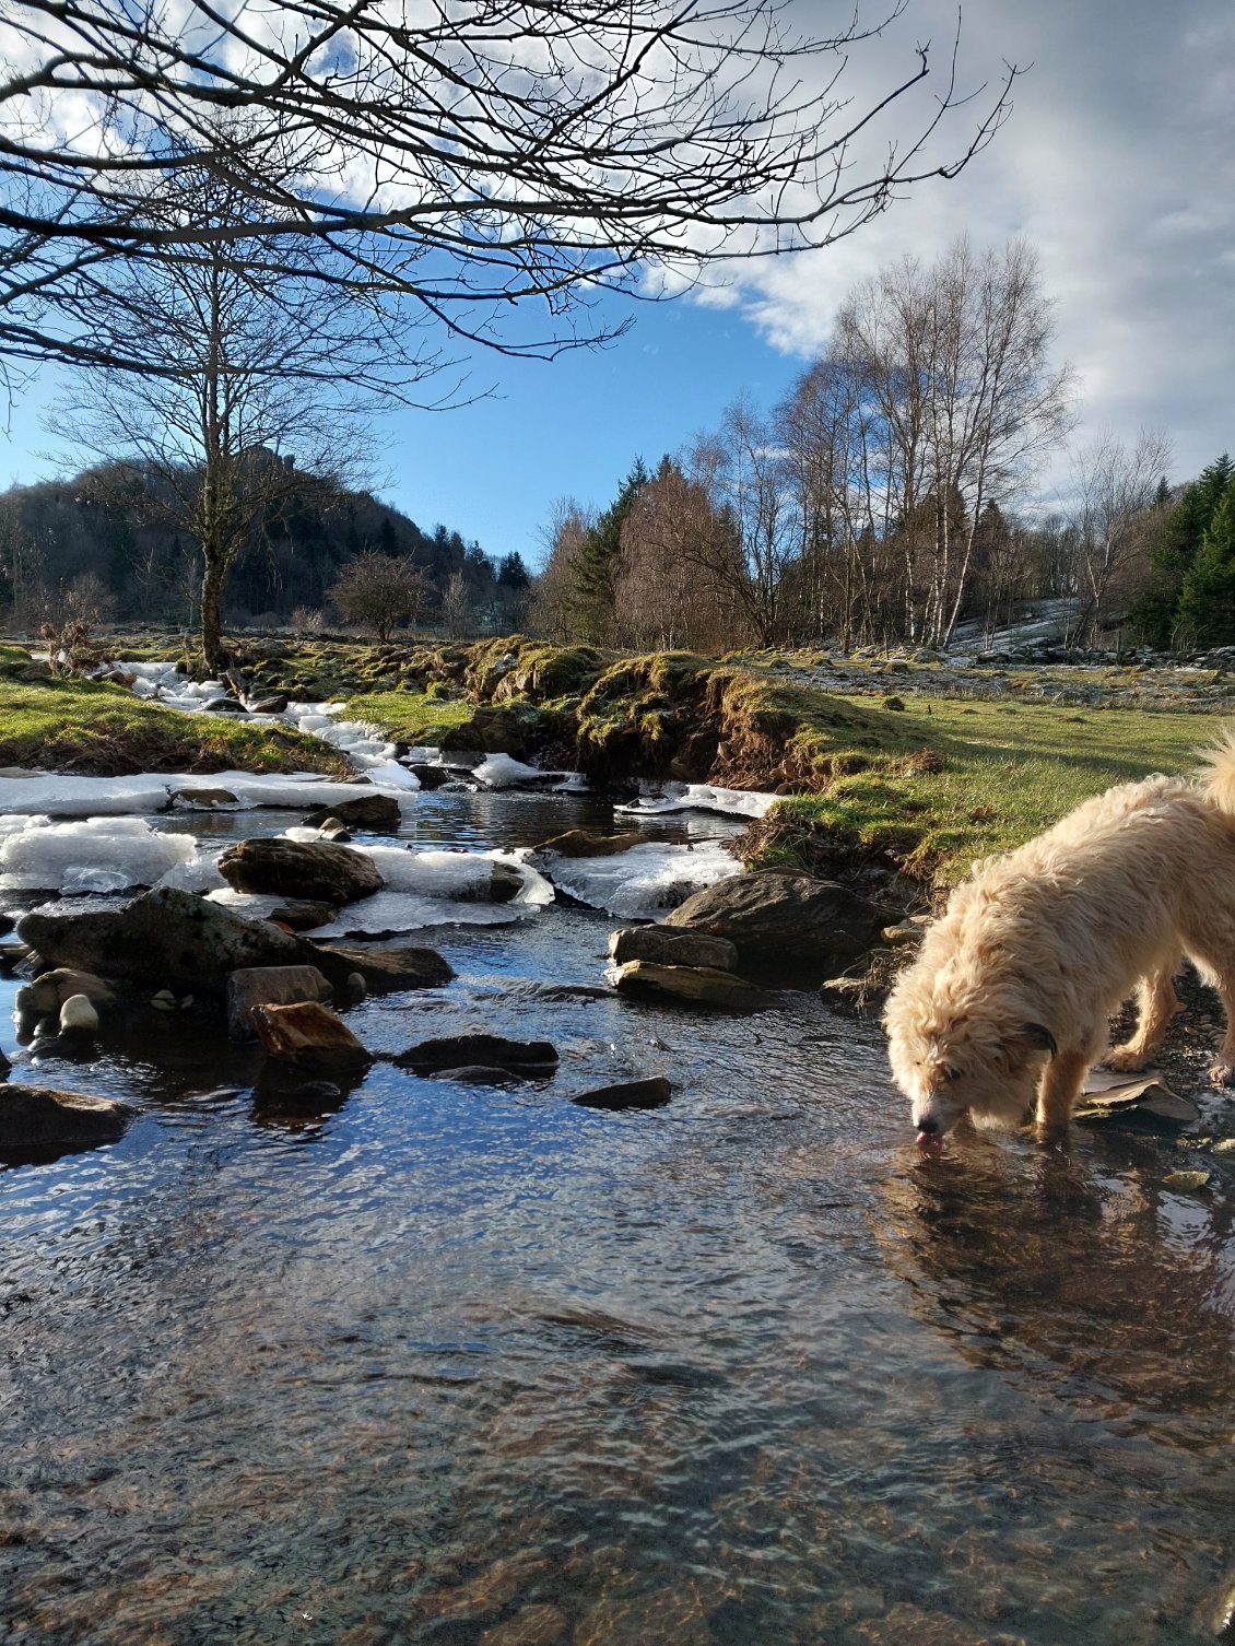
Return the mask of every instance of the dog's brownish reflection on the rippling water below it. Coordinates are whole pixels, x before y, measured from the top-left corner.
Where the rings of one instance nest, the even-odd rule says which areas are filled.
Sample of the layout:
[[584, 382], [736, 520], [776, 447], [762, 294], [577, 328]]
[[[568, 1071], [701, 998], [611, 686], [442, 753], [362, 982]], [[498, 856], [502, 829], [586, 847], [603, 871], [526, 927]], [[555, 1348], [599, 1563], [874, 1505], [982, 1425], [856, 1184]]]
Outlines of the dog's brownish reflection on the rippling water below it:
[[965, 1142], [889, 1177], [876, 1238], [914, 1312], [975, 1366], [1126, 1432], [1225, 1445], [1230, 1207], [1172, 1192], [1163, 1155], [1135, 1137], [1102, 1154]]

